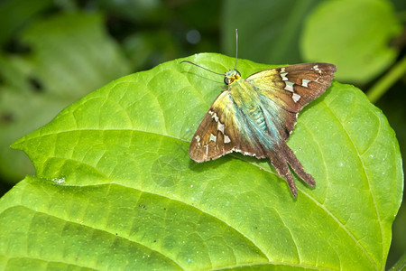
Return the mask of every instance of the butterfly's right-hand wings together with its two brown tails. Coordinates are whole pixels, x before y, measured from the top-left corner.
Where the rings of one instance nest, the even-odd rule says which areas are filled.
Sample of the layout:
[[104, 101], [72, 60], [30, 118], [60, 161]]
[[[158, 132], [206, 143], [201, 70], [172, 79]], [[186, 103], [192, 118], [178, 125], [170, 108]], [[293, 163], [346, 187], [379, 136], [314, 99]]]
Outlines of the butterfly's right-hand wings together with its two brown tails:
[[263, 70], [246, 79], [259, 94], [269, 131], [279, 131], [281, 135], [275, 145], [264, 145], [263, 149], [278, 174], [286, 178], [295, 197], [297, 189], [288, 164], [304, 182], [311, 186], [316, 182], [304, 171], [286, 140], [296, 125], [300, 110], [328, 89], [336, 70], [335, 65], [328, 63], [303, 63]]

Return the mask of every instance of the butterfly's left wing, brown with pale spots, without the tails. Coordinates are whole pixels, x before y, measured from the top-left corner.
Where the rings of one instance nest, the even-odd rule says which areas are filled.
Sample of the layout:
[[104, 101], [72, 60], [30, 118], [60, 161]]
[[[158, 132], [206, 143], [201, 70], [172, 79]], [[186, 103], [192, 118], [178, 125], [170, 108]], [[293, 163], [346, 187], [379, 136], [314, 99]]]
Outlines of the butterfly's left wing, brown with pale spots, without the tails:
[[229, 90], [223, 91], [213, 102], [198, 126], [189, 147], [189, 156], [201, 163], [214, 160], [233, 151], [266, 157], [261, 145], [246, 129], [244, 117]]

